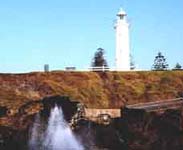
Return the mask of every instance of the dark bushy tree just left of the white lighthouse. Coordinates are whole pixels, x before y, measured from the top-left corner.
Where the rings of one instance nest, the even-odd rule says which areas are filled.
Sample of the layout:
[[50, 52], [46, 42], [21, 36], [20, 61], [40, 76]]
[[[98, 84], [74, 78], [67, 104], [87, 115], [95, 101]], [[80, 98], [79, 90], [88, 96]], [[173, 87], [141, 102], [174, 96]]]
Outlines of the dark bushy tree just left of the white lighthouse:
[[102, 48], [98, 48], [95, 52], [94, 58], [92, 60], [92, 67], [107, 67], [107, 61], [104, 58], [105, 51]]

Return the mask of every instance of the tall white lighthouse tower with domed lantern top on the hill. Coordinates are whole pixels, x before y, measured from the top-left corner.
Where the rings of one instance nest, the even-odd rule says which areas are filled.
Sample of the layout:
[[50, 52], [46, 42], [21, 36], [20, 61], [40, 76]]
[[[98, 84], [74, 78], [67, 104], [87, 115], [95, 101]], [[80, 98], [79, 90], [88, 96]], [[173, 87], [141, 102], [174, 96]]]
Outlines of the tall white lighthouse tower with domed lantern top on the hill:
[[116, 70], [130, 70], [130, 42], [129, 23], [126, 19], [126, 12], [123, 9], [117, 14], [116, 30]]

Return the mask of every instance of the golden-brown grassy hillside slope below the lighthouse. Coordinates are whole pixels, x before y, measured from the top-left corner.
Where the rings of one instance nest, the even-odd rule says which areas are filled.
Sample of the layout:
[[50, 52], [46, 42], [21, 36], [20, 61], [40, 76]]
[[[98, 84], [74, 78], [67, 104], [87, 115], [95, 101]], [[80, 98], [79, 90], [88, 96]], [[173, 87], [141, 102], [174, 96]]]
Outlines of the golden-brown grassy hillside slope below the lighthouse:
[[49, 72], [0, 74], [0, 106], [16, 109], [30, 100], [69, 96], [88, 107], [119, 108], [183, 93], [183, 72]]

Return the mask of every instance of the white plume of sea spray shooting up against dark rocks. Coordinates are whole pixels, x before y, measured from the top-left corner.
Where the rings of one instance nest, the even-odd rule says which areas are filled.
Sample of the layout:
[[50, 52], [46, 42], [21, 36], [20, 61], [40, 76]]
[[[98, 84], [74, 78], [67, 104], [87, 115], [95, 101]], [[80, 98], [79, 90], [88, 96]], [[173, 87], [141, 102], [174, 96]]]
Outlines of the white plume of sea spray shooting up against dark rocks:
[[68, 123], [64, 120], [62, 109], [55, 106], [50, 113], [45, 131], [38, 115], [29, 140], [30, 150], [84, 150], [76, 139]]

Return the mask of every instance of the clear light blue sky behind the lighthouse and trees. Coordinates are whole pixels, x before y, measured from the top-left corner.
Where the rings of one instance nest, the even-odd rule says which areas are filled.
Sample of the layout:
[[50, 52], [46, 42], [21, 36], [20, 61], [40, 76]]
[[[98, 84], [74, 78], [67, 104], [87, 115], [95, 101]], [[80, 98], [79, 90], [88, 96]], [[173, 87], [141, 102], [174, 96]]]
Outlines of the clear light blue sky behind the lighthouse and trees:
[[183, 65], [182, 0], [6, 0], [0, 2], [0, 72], [87, 68], [97, 48], [115, 65], [113, 25], [128, 13], [131, 53], [150, 69], [161, 51], [170, 68]]

